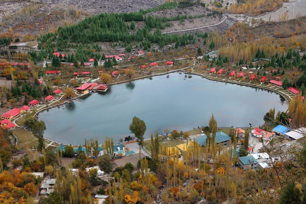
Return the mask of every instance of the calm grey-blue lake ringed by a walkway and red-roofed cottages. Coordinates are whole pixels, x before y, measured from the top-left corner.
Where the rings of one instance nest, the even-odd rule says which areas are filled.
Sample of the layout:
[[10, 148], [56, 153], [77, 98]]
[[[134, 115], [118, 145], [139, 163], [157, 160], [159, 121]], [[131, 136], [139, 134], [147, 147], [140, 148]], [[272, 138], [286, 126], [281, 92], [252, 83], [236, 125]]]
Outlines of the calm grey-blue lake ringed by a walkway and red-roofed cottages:
[[94, 93], [82, 102], [38, 114], [46, 123], [44, 137], [58, 143], [84, 144], [84, 138], [124, 139], [132, 135], [129, 124], [137, 116], [151, 132], [190, 130], [208, 125], [211, 113], [218, 127], [248, 127], [262, 124], [263, 115], [275, 107], [275, 113], [287, 109], [282, 96], [263, 89], [207, 80], [200, 76], [171, 73], [109, 87], [106, 93]]

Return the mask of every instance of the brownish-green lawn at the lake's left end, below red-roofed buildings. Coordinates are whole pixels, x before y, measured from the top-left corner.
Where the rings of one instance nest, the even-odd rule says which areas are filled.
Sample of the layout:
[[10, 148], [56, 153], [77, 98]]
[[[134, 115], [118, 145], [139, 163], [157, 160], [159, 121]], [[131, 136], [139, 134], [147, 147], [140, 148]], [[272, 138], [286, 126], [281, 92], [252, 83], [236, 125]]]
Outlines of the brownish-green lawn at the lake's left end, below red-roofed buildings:
[[32, 149], [37, 145], [37, 138], [29, 130], [20, 129], [12, 130], [12, 132], [18, 139], [17, 145], [20, 150], [27, 150], [27, 146]]

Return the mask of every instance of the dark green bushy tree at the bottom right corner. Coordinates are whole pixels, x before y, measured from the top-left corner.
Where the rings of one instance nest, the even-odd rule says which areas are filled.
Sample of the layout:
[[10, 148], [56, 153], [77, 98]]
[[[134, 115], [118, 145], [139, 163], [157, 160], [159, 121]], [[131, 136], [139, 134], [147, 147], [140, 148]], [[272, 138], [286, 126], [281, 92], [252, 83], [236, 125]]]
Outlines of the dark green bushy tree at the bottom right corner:
[[279, 204], [295, 204], [301, 203], [300, 189], [295, 187], [294, 181], [287, 182], [286, 187], [280, 195]]

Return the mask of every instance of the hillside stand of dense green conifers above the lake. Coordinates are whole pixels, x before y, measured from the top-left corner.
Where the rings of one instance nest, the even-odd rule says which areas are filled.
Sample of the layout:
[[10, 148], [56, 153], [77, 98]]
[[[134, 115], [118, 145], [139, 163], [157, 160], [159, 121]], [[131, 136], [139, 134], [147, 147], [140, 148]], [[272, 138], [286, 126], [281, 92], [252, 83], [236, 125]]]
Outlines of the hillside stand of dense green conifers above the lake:
[[[132, 13], [101, 13], [93, 17], [88, 17], [77, 24], [60, 27], [55, 33], [47, 33], [39, 40], [39, 49], [44, 50], [47, 57], [51, 56], [53, 50], [69, 51], [69, 48], [77, 48], [78, 55], [93, 56], [92, 48], [89, 44], [95, 42], [121, 42], [123, 46], [129, 47], [132, 42], [141, 43], [144, 50], [150, 49], [151, 45], [158, 44], [163, 47], [170, 43], [177, 43], [177, 46], [186, 46], [195, 43], [193, 35], [168, 35], [162, 34], [159, 29], [171, 26], [171, 19], [165, 17], [145, 16], [163, 9], [171, 9], [177, 6], [190, 6], [176, 2], [165, 3], [152, 9], [140, 10]], [[205, 5], [203, 6], [205, 7]], [[210, 12], [209, 9], [207, 11]], [[218, 12], [208, 13], [209, 15], [219, 14]], [[205, 14], [203, 14], [205, 16]], [[177, 19], [185, 19], [186, 16], [178, 16]], [[190, 18], [190, 17], [188, 17]], [[135, 22], [143, 21], [144, 26], [136, 28]], [[151, 31], [154, 30], [152, 33]], [[77, 57], [79, 58], [79, 57]]]

